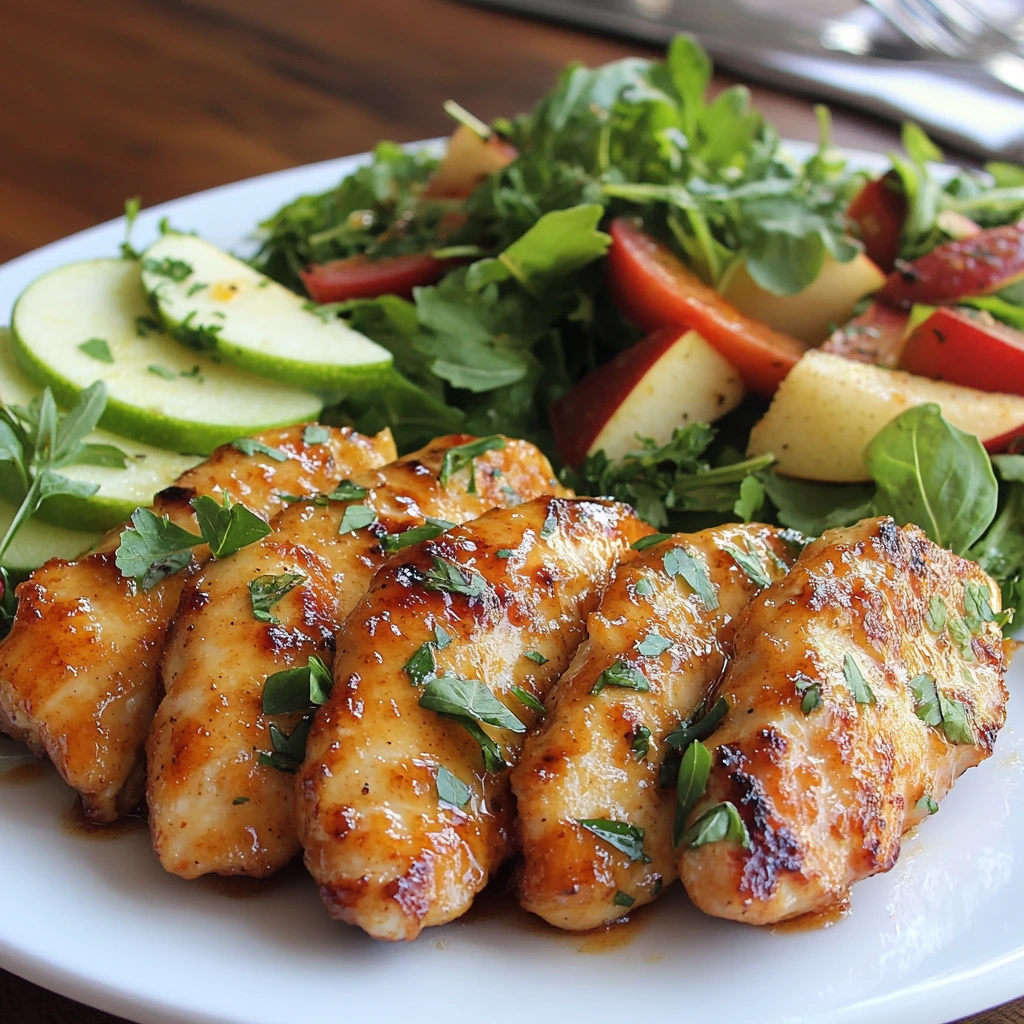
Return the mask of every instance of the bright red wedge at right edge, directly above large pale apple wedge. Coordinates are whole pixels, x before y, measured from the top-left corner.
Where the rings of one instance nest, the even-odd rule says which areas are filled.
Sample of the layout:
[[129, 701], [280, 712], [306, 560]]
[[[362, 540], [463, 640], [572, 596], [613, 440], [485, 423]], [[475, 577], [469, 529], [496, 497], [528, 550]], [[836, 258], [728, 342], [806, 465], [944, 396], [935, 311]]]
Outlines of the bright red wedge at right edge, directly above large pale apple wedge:
[[991, 317], [936, 309], [903, 343], [899, 367], [981, 391], [1024, 395], [1024, 333]]

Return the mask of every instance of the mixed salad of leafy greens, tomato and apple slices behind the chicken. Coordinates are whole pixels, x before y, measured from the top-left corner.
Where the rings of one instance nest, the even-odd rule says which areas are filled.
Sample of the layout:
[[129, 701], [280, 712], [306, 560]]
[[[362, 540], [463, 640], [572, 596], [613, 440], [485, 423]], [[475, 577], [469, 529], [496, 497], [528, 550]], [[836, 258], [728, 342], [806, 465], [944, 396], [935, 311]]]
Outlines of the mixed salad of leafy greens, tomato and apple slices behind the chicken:
[[[449, 104], [446, 155], [382, 142], [336, 187], [264, 220], [247, 264], [165, 225], [146, 252], [126, 244], [120, 260], [62, 268], [65, 298], [117, 292], [117, 329], [94, 298], [77, 334], [53, 328], [44, 300], [56, 285], [32, 286], [11, 346], [46, 390], [0, 408], [3, 497], [19, 509], [0, 564], [13, 532], [68, 492], [61, 466], [118, 462], [88, 437], [97, 425], [202, 454], [321, 415], [390, 426], [400, 451], [456, 431], [526, 438], [578, 493], [628, 501], [664, 530], [738, 519], [813, 536], [892, 514], [979, 561], [1005, 606], [1024, 608], [1024, 169], [948, 173], [907, 125], [905, 152], [872, 176], [833, 146], [824, 109], [816, 148], [796, 160], [744, 88], [712, 98], [710, 81], [685, 36], [664, 61], [570, 67], [512, 120], [486, 125]], [[711, 425], [654, 394], [657, 430], [599, 445], [636, 398], [622, 382], [670, 379], [659, 360], [687, 331], [699, 336], [687, 335], [687, 353], [719, 360], [707, 387], [689, 383], [728, 391], [723, 415]], [[143, 341], [165, 347], [139, 355]], [[72, 349], [78, 361], [65, 366]], [[796, 472], [781, 451], [755, 451], [773, 396], [773, 409], [796, 401], [788, 382], [805, 350], [829, 353], [819, 369], [850, 396], [836, 420], [844, 436], [856, 427], [852, 472]], [[878, 374], [904, 373], [927, 387], [891, 398], [861, 459], [857, 389], [874, 394]], [[93, 380], [106, 383], [76, 404]], [[210, 411], [214, 380], [236, 396], [223, 415]], [[138, 394], [165, 385], [165, 411], [140, 412]], [[71, 425], [57, 403], [74, 407]], [[831, 415], [821, 408], [801, 429], [827, 433]], [[9, 586], [4, 600], [9, 611]]]

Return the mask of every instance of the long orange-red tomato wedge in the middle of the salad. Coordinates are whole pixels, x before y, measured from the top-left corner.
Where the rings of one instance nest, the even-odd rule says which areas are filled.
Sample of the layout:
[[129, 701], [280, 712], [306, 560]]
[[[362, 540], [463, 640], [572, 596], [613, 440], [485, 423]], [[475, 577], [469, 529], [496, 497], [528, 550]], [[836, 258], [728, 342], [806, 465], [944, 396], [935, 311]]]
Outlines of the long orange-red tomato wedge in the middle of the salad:
[[646, 332], [688, 327], [725, 356], [758, 394], [770, 395], [807, 346], [744, 315], [628, 217], [609, 228], [608, 280], [623, 312]]

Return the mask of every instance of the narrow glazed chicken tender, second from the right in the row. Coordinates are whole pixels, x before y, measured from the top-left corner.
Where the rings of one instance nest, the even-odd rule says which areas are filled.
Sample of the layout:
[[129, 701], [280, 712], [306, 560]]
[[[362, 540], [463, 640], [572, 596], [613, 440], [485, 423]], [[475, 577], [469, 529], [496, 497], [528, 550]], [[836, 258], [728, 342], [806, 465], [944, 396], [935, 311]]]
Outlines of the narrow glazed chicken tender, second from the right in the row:
[[[794, 559], [777, 529], [751, 524], [678, 535], [617, 569], [547, 716], [526, 737], [512, 771], [519, 899], [558, 928], [606, 925], [676, 879], [676, 793], [658, 786], [665, 738], [721, 676], [735, 617], [761, 589], [737, 551], [767, 580], [784, 575]], [[687, 580], [694, 573], [707, 581], [702, 594]], [[602, 688], [620, 666], [642, 673], [649, 688]], [[649, 860], [628, 856], [581, 820], [641, 829]]]

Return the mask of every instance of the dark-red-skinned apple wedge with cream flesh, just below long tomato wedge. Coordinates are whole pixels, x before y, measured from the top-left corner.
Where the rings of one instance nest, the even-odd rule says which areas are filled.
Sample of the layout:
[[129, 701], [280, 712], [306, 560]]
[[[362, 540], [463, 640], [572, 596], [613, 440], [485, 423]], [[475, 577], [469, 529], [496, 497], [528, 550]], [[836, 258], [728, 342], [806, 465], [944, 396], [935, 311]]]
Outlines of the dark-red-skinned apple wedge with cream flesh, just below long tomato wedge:
[[743, 398], [739, 376], [695, 331], [660, 328], [583, 378], [551, 408], [559, 457], [579, 466], [604, 451], [621, 459], [664, 444], [676, 427], [710, 423]]

